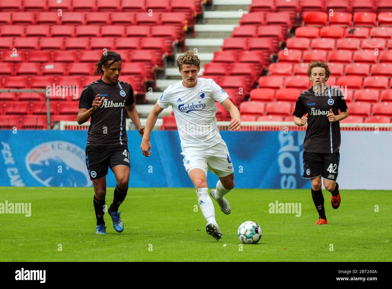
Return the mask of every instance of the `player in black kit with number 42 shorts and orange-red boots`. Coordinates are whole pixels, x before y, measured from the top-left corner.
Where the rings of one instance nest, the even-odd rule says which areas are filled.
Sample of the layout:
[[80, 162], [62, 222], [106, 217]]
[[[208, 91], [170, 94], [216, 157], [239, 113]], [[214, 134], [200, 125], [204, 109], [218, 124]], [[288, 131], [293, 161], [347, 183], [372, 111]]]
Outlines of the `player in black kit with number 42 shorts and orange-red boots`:
[[308, 76], [313, 87], [299, 95], [294, 111], [296, 125], [308, 123], [303, 142], [303, 177], [312, 182], [312, 198], [319, 213], [315, 225], [328, 224], [321, 177], [324, 178], [325, 188], [332, 194], [332, 208], [337, 209], [340, 205], [339, 185], [336, 182], [340, 161], [339, 121], [348, 116], [348, 111], [341, 90], [325, 85], [330, 75], [327, 63], [311, 61]]

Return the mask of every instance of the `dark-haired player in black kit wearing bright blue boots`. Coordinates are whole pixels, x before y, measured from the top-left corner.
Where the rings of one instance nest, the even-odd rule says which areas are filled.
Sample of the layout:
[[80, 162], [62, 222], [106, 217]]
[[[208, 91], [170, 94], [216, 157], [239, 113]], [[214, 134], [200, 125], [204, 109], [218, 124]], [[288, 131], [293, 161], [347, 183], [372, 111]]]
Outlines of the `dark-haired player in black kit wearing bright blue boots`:
[[96, 64], [94, 75], [101, 79], [85, 87], [80, 96], [78, 123], [91, 117], [86, 146], [86, 165], [94, 187], [94, 209], [97, 219], [96, 234], [105, 234], [106, 175], [108, 166], [116, 177], [113, 203], [107, 212], [117, 232], [124, 230], [118, 207], [127, 195], [130, 159], [128, 138], [125, 130], [125, 112], [143, 136], [134, 105], [134, 95], [129, 83], [118, 80], [121, 72], [121, 56], [107, 51]]

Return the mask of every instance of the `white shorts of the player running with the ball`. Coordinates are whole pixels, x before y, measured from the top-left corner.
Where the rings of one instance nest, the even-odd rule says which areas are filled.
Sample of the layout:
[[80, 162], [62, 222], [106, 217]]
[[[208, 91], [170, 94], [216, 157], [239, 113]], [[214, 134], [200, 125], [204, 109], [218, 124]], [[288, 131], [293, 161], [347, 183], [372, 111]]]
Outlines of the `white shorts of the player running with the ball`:
[[229, 150], [223, 140], [206, 150], [184, 150], [181, 155], [184, 156], [183, 163], [188, 174], [194, 168], [200, 168], [205, 175], [209, 170], [218, 177], [234, 173]]

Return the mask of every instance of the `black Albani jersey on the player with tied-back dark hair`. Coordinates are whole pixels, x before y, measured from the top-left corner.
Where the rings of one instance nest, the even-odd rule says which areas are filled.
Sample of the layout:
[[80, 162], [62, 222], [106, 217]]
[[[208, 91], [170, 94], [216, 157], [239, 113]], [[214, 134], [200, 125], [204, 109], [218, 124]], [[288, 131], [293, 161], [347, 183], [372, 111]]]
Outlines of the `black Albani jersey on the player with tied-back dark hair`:
[[113, 85], [102, 79], [94, 81], [83, 90], [79, 108], [90, 109], [97, 94], [105, 99], [101, 107], [91, 115], [87, 146], [128, 144], [125, 106], [134, 103], [131, 85], [123, 81], [117, 81]]

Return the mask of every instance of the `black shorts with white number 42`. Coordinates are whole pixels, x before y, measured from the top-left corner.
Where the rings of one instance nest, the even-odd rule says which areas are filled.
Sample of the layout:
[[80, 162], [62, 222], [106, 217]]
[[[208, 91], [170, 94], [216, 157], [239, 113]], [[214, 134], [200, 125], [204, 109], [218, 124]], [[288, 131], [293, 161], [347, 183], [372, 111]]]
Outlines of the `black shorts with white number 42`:
[[312, 179], [322, 176], [324, 179], [338, 179], [340, 154], [303, 152], [303, 177]]

